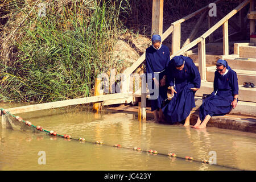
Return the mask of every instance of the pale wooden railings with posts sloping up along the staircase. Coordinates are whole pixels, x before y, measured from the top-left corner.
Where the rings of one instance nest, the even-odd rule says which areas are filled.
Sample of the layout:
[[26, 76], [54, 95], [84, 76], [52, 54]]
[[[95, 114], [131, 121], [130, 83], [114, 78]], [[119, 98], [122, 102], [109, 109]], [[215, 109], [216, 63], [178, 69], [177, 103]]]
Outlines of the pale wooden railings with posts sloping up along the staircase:
[[[218, 3], [221, 0], [214, 1], [213, 3]], [[242, 2], [242, 0], [240, 0]], [[195, 11], [192, 14], [189, 14], [185, 16], [184, 18], [181, 18], [177, 20], [176, 22], [172, 23], [171, 26], [163, 33], [162, 35], [162, 41], [165, 40], [170, 34], [172, 34], [172, 55], [170, 58], [181, 55], [185, 52], [187, 52], [189, 49], [192, 47], [195, 47], [198, 45], [198, 56], [199, 56], [199, 72], [201, 75], [201, 80], [206, 80], [206, 51], [205, 51], [205, 39], [209, 36], [209, 42], [213, 41], [213, 32], [217, 30], [220, 26], [222, 26], [222, 34], [223, 34], [223, 55], [228, 55], [229, 54], [229, 40], [228, 40], [228, 25], [229, 25], [229, 19], [232, 18], [236, 13], [238, 13], [243, 7], [245, 7], [248, 3], [250, 3], [250, 10], [254, 9], [254, 0], [245, 0], [240, 5], [238, 5], [234, 10], [232, 10], [228, 15], [222, 14], [220, 11], [218, 12], [218, 15], [223, 17], [220, 21], [218, 21], [216, 24], [213, 24], [212, 18], [208, 16], [208, 27], [209, 30], [205, 32], [203, 35], [201, 35], [199, 38], [191, 40], [195, 38], [196, 33], [198, 32], [200, 28], [200, 24], [203, 22], [204, 17], [207, 14], [207, 10], [209, 9], [208, 6], [205, 6], [201, 8], [200, 10]], [[191, 34], [189, 35], [188, 39], [185, 41], [183, 44], [183, 47], [180, 49], [180, 38], [181, 38], [181, 23], [185, 22], [185, 20], [188, 20], [197, 14], [201, 14], [200, 19], [195, 25], [195, 28], [191, 31]], [[240, 13], [240, 27], [236, 25], [236, 23], [232, 22], [231, 26], [237, 30], [241, 31], [242, 30], [242, 18], [241, 18], [241, 13]], [[142, 62], [145, 60], [145, 55], [146, 53], [143, 53], [141, 57], [133, 65], [131, 65], [130, 68], [127, 68], [125, 72], [125, 76], [129, 78], [129, 75], [135, 71], [139, 67], [139, 65], [142, 64]], [[129, 82], [130, 79], [127, 79], [127, 82]], [[142, 93], [144, 94], [144, 93]], [[143, 103], [146, 103], [146, 97], [143, 95]], [[143, 104], [144, 105], [144, 104]], [[141, 106], [142, 107], [142, 106]], [[142, 107], [142, 109], [145, 109]], [[142, 118], [143, 120], [146, 119], [146, 111], [142, 113]]]

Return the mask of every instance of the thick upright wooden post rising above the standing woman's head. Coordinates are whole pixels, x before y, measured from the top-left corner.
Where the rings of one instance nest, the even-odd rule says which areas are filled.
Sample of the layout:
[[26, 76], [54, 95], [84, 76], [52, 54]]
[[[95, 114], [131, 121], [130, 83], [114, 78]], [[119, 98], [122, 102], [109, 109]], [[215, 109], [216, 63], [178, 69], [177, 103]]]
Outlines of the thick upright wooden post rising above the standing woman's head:
[[152, 2], [152, 27], [151, 35], [163, 34], [163, 0], [153, 0]]

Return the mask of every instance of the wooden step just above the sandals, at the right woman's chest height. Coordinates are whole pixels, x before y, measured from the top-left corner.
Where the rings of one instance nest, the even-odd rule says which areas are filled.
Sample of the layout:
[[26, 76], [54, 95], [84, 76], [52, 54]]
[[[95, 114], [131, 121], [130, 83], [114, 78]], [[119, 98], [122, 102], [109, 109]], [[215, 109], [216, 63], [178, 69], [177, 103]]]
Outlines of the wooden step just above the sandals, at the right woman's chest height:
[[[207, 67], [207, 81], [213, 82], [214, 72], [216, 66]], [[253, 82], [256, 84], [256, 71], [244, 70], [244, 69], [233, 69], [237, 73], [238, 84], [242, 85], [243, 82]]]

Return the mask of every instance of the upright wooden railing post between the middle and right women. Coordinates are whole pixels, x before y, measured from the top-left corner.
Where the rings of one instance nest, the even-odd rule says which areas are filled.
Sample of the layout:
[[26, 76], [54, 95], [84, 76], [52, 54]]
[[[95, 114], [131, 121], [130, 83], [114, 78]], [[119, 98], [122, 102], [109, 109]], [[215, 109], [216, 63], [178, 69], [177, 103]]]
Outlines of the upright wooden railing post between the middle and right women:
[[206, 80], [206, 55], [205, 55], [205, 39], [198, 44], [199, 72], [201, 80]]

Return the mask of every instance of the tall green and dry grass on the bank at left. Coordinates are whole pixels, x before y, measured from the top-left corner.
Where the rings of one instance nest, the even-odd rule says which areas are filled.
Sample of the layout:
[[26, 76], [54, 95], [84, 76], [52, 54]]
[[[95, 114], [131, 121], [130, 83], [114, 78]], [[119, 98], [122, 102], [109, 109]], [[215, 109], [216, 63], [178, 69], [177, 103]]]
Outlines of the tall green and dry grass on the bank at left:
[[[1, 100], [40, 103], [91, 96], [98, 73], [113, 67], [112, 49], [127, 1], [42, 2], [48, 3], [46, 16], [34, 9], [16, 37], [3, 33], [12, 24], [2, 29], [2, 45], [11, 43], [16, 56], [5, 55], [6, 45], [1, 47]], [[9, 20], [22, 22], [34, 3], [12, 1], [10, 13], [16, 16]]]

